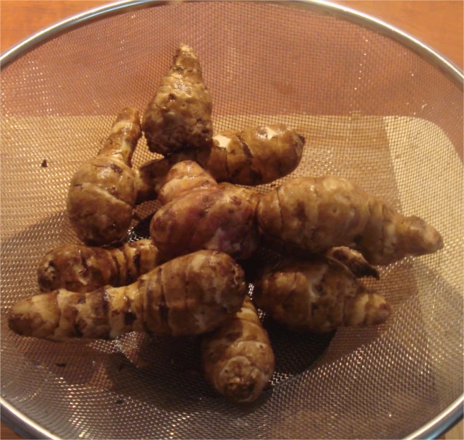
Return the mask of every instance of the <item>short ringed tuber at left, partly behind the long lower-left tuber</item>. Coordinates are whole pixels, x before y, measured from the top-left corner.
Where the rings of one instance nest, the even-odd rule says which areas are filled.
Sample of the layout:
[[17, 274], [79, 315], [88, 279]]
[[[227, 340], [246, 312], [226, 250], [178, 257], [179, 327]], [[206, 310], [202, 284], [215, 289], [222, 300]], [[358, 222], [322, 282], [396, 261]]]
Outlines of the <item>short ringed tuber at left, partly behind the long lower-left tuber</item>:
[[92, 292], [98, 287], [119, 287], [165, 263], [150, 239], [125, 243], [115, 248], [62, 244], [44, 256], [38, 270], [42, 292], [66, 289]]

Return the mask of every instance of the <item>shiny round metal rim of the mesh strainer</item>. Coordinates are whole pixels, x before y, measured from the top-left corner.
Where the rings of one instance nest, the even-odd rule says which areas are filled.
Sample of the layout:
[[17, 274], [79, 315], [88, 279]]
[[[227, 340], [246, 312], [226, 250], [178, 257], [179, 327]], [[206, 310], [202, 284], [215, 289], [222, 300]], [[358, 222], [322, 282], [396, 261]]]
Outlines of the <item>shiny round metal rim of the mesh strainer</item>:
[[[39, 32], [31, 35], [25, 40], [14, 45], [10, 49], [6, 50], [0, 55], [0, 68], [4, 69], [8, 64], [11, 64], [16, 59], [30, 52], [40, 44], [44, 44], [48, 40], [55, 38], [65, 32], [74, 30], [83, 25], [107, 18], [108, 16], [116, 15], [119, 13], [126, 13], [128, 11], [135, 11], [138, 9], [153, 7], [153, 6], [166, 6], [172, 4], [182, 4], [191, 1], [210, 1], [210, 0], [123, 0], [116, 1], [111, 4], [99, 6], [97, 8], [90, 9], [83, 13], [78, 13], [75, 16], [61, 20], [54, 25], [44, 28]], [[250, 0], [233, 0], [233, 1], [250, 1]], [[254, 1], [254, 0], [251, 0]], [[283, 0], [283, 1], [254, 1], [256, 3], [266, 4], [280, 4], [294, 8], [302, 8], [307, 11], [313, 11], [316, 13], [323, 13], [334, 18], [340, 18], [343, 20], [350, 21], [356, 25], [362, 26], [376, 33], [380, 33], [386, 37], [389, 37], [400, 44], [412, 49], [414, 52], [419, 54], [424, 60], [434, 65], [442, 73], [455, 83], [460, 90], [463, 90], [464, 74], [462, 69], [459, 69], [456, 64], [446, 59], [443, 55], [436, 52], [432, 47], [424, 44], [420, 40], [412, 37], [406, 32], [399, 30], [388, 23], [383, 22], [377, 18], [369, 16], [365, 13], [355, 11], [352, 8], [346, 6], [340, 6], [338, 4], [331, 4], [323, 0]], [[436, 415], [423, 427], [412, 432], [406, 439], [434, 439], [450, 427], [456, 424], [460, 419], [463, 418], [463, 404], [464, 394], [457, 398], [451, 405], [448, 406], [439, 415]], [[40, 424], [34, 422], [29, 417], [23, 415], [16, 408], [8, 403], [3, 397], [0, 396], [1, 405], [1, 419], [18, 434], [28, 437], [30, 439], [58, 439], [52, 432], [49, 432]]]

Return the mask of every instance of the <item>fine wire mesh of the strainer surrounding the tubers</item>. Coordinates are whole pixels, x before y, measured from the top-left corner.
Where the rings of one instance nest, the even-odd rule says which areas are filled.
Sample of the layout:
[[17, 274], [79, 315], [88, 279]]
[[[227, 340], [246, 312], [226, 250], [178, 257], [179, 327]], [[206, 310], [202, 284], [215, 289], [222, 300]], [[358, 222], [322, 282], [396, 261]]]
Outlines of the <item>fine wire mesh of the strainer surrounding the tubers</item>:
[[[194, 338], [52, 343], [6, 325], [38, 293], [44, 254], [77, 240], [73, 172], [119, 110], [144, 111], [181, 42], [201, 60], [215, 132], [278, 122], [306, 138], [297, 170], [261, 191], [336, 174], [444, 237], [437, 254], [381, 268], [371, 286], [393, 307], [383, 326], [297, 340], [265, 319], [277, 371], [246, 407], [206, 386]], [[42, 44], [2, 71], [1, 93], [1, 393], [54, 435], [400, 438], [463, 393], [463, 94], [410, 49], [288, 6], [164, 5]], [[154, 157], [141, 140], [133, 164]], [[138, 206], [136, 232], [156, 208]]]

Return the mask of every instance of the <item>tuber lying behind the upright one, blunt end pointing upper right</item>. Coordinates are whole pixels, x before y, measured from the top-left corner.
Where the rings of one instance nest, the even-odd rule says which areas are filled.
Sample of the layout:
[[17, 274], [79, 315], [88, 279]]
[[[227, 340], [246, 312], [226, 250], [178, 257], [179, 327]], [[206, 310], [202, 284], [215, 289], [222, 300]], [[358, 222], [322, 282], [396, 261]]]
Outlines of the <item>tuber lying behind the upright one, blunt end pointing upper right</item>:
[[285, 125], [257, 126], [223, 131], [213, 136], [210, 148], [184, 150], [150, 160], [136, 171], [137, 203], [154, 200], [172, 165], [194, 160], [216, 182], [261, 185], [290, 174], [302, 158], [304, 138]]

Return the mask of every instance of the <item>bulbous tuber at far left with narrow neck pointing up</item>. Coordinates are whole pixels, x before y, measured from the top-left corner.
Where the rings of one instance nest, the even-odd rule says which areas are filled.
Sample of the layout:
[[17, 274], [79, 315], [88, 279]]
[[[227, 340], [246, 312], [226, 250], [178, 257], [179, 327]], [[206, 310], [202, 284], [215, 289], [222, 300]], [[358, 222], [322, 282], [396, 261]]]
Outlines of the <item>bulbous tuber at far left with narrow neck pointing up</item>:
[[73, 229], [86, 244], [116, 242], [129, 229], [137, 196], [131, 158], [140, 137], [138, 112], [124, 109], [97, 157], [84, 162], [73, 175], [67, 211]]

